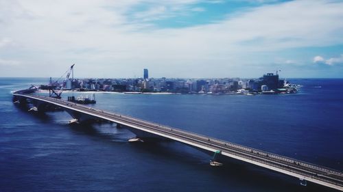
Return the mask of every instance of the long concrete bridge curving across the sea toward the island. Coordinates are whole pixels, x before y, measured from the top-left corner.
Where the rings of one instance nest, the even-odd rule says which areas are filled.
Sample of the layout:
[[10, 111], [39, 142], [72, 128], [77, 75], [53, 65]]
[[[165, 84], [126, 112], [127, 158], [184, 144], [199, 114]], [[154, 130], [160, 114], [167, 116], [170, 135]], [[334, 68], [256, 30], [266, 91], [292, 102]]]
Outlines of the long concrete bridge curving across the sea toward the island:
[[[29, 92], [30, 93], [30, 92]], [[66, 100], [27, 94], [27, 92], [14, 92], [15, 102], [25, 102], [31, 100], [36, 109], [44, 109], [47, 105], [54, 105], [67, 111], [78, 121], [86, 120], [106, 120], [115, 122], [117, 125], [125, 126], [139, 137], [160, 137], [185, 143], [188, 146], [227, 156], [239, 161], [251, 163], [275, 172], [287, 174], [300, 179], [300, 184], [306, 185], [307, 181], [314, 182], [326, 187], [343, 191], [343, 173], [328, 167], [314, 165], [304, 161], [298, 161], [286, 156], [272, 154], [262, 150], [241, 146], [236, 143], [215, 139], [189, 131], [182, 131], [178, 128], [156, 124], [132, 118], [128, 115], [121, 115], [110, 111], [95, 109], [85, 105], [75, 104]]]

